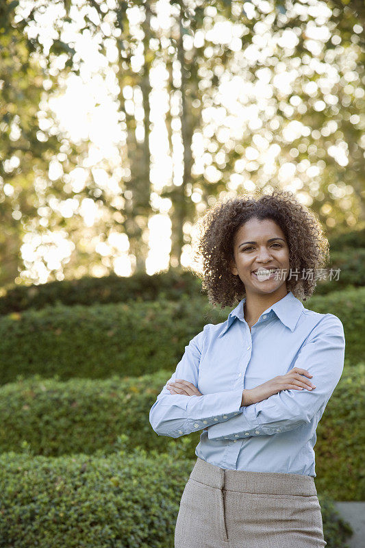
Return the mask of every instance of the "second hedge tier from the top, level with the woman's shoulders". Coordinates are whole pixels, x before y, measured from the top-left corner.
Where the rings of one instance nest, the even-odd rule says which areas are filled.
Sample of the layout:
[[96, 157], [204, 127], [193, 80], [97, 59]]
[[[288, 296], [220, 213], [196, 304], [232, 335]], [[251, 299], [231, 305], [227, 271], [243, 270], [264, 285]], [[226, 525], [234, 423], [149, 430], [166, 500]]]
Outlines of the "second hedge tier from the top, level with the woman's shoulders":
[[[365, 288], [313, 296], [305, 308], [332, 312], [344, 324], [346, 356], [364, 355], [360, 337], [365, 319]], [[0, 384], [17, 375], [105, 378], [144, 375], [176, 364], [206, 323], [227, 319], [206, 297], [180, 301], [46, 307], [12, 312], [0, 319]]]

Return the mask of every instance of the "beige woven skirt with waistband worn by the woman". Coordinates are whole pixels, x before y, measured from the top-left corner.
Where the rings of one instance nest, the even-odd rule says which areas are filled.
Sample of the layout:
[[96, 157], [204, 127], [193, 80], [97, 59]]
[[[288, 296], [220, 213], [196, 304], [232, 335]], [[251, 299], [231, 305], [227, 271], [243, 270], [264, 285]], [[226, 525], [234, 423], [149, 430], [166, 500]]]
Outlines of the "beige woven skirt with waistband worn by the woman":
[[197, 458], [181, 497], [175, 548], [323, 548], [310, 475], [225, 470]]

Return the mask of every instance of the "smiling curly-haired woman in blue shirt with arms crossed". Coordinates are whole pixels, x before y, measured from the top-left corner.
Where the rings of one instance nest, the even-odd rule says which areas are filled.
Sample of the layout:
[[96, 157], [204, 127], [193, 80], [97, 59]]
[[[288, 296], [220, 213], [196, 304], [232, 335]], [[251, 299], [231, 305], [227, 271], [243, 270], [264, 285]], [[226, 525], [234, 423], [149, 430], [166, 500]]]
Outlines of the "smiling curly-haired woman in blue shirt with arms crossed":
[[304, 308], [329, 245], [291, 192], [217, 203], [199, 239], [210, 303], [232, 306], [185, 348], [153, 404], [158, 434], [202, 430], [175, 548], [320, 548], [316, 426], [344, 366], [333, 314]]

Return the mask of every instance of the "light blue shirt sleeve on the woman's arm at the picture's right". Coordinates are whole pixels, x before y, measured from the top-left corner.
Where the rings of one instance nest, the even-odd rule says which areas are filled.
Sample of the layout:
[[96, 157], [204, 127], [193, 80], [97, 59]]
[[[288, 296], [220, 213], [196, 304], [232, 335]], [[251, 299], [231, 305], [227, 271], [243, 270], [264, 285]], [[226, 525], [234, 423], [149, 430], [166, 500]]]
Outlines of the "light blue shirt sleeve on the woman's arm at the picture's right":
[[294, 363], [312, 373], [310, 380], [316, 388], [281, 390], [259, 403], [240, 407], [240, 414], [224, 427], [220, 424], [209, 427], [208, 439], [271, 436], [309, 424], [318, 411], [320, 418], [342, 375], [344, 347], [341, 321], [333, 314], [326, 314], [312, 330]]

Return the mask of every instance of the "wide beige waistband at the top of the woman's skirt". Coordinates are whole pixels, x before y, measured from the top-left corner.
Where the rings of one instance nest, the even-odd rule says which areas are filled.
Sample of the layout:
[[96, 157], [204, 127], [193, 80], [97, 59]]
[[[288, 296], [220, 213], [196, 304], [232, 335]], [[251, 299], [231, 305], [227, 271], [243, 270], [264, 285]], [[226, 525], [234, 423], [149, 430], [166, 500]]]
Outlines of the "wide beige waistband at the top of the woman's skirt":
[[210, 487], [241, 493], [304, 497], [317, 495], [314, 477], [311, 475], [226, 470], [199, 457], [190, 473], [190, 479]]

